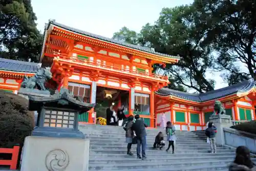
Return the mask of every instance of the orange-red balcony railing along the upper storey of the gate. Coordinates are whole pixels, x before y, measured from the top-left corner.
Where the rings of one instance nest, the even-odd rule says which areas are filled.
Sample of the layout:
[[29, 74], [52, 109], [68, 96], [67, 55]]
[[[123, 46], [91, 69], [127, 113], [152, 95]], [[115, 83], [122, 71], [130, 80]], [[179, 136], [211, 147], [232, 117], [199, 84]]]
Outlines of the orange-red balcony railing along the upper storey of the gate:
[[93, 66], [93, 67], [97, 67], [100, 69], [104, 69], [104, 70], [110, 70], [110, 71], [117, 71], [117, 72], [124, 72], [127, 74], [135, 74], [138, 76], [144, 76], [144, 77], [150, 77], [150, 78], [155, 78], [155, 79], [162, 79], [165, 81], [168, 81], [168, 77], [167, 76], [162, 76], [162, 75], [157, 75], [154, 73], [148, 73], [148, 72], [142, 72], [139, 70], [134, 70], [133, 68], [125, 68], [126, 66], [124, 66], [124, 68], [121, 68], [121, 64], [120, 63], [115, 63], [115, 62], [110, 62], [110, 61], [105, 61], [102, 62], [95, 62], [92, 61], [90, 59], [82, 59], [79, 57], [67, 57], [66, 55], [62, 55], [62, 54], [56, 54], [56, 56], [59, 56], [60, 59], [65, 59], [65, 60], [69, 60], [69, 61], [73, 61], [73, 62], [79, 62], [82, 63], [82, 65], [87, 65], [87, 66]]

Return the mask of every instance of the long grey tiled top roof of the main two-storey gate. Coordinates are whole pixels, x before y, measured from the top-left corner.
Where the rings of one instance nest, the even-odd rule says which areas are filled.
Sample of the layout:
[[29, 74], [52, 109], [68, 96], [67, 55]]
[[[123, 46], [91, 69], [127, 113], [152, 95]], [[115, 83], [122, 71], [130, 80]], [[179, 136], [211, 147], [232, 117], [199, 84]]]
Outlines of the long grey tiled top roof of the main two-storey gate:
[[72, 27], [69, 27], [69, 26], [66, 26], [66, 25], [62, 25], [62, 24], [59, 24], [59, 23], [56, 23], [56, 22], [53, 22], [53, 21], [51, 21], [48, 24], [48, 27], [50, 26], [50, 24], [55, 25], [55, 26], [60, 27], [60, 28], [63, 28], [63, 29], [66, 29], [66, 30], [69, 30], [69, 31], [72, 31], [72, 32], [75, 32], [75, 33], [78, 33], [78, 34], [90, 36], [90, 37], [97, 38], [97, 39], [104, 40], [104, 41], [109, 41], [109, 42], [112, 42], [113, 44], [125, 46], [125, 47], [128, 47], [128, 48], [137, 49], [137, 50], [140, 50], [140, 51], [144, 51], [144, 52], [148, 52], [148, 53], [152, 53], [152, 54], [156, 54], [156, 55], [160, 55], [160, 56], [179, 59], [179, 57], [177, 57], [177, 56], [166, 55], [166, 54], [155, 52], [155, 51], [151, 50], [151, 48], [142, 47], [142, 46], [138, 46], [138, 45], [127, 44], [126, 42], [123, 42], [123, 41], [120, 41], [120, 40], [116, 40], [116, 39], [108, 38], [108, 37], [103, 37], [103, 36], [100, 36], [100, 35], [97, 35], [97, 34], [89, 33], [89, 32], [82, 31], [82, 30], [79, 30], [79, 29], [75, 29], [75, 28], [72, 28]]

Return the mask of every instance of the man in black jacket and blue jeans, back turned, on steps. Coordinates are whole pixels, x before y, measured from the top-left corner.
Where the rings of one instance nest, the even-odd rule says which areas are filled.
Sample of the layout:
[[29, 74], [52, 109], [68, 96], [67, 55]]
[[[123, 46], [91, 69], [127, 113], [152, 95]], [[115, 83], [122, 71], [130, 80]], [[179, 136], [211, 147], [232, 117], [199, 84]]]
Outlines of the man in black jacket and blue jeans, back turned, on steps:
[[146, 159], [146, 129], [147, 125], [144, 123], [142, 119], [140, 119], [139, 115], [135, 115], [134, 117], [136, 121], [132, 126], [132, 130], [135, 131], [137, 137], [137, 158], [141, 159], [140, 156], [140, 146], [142, 148], [142, 160]]

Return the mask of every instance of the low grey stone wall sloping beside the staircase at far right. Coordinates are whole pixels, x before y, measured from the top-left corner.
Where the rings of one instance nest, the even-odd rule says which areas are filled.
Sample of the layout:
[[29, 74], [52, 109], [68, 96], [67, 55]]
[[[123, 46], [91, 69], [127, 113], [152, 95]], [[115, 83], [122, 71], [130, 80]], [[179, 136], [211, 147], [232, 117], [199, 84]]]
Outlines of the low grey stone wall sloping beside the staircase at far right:
[[247, 146], [251, 153], [256, 154], [256, 135], [223, 127], [225, 144], [232, 147]]

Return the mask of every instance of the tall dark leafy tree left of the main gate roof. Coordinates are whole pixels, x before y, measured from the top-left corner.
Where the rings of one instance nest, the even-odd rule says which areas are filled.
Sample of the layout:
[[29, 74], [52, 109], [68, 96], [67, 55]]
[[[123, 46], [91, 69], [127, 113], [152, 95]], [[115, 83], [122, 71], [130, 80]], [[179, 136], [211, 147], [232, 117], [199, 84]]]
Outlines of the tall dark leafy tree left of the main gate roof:
[[42, 35], [30, 0], [1, 0], [0, 55], [4, 58], [37, 61]]

